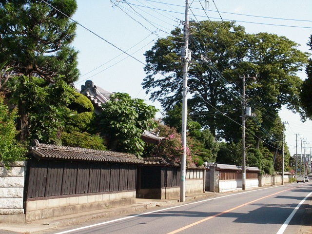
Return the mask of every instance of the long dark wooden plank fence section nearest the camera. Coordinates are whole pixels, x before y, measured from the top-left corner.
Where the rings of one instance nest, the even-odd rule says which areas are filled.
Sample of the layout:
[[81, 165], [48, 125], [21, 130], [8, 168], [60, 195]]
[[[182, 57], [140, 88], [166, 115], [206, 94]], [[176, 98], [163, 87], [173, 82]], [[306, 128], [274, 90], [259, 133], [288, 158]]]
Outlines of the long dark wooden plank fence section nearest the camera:
[[25, 199], [135, 190], [137, 165], [32, 159]]

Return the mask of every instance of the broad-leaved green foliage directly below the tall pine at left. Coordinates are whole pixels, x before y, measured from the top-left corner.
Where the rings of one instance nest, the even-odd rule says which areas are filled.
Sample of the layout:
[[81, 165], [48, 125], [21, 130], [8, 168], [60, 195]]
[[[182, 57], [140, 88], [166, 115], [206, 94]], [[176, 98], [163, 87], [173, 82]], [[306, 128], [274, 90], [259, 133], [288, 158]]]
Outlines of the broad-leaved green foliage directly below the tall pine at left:
[[31, 126], [24, 132], [29, 132], [23, 136], [26, 140], [60, 144], [60, 131], [66, 119], [74, 115], [66, 107], [75, 92], [62, 78], [55, 78], [55, 83], [48, 86], [41, 78], [21, 76], [12, 79], [12, 90], [15, 90], [12, 100], [27, 117], [24, 126]]

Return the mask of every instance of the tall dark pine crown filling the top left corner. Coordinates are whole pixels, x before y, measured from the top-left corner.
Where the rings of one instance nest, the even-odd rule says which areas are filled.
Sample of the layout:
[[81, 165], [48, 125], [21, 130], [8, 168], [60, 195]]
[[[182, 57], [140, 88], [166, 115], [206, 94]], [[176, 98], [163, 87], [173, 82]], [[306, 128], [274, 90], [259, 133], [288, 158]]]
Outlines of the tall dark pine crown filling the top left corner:
[[[72, 17], [76, 0], [49, 3]], [[41, 1], [0, 2], [0, 62], [25, 76], [37, 73], [48, 82], [60, 74], [65, 82], [78, 79], [78, 52], [70, 46], [76, 23]]]

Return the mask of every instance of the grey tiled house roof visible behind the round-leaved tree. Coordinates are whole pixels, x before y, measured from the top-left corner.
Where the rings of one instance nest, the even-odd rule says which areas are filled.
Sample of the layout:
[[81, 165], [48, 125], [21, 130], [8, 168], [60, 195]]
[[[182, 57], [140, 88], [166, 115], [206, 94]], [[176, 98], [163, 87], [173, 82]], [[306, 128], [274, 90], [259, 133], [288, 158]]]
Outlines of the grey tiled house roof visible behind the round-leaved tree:
[[[99, 115], [102, 110], [102, 104], [106, 103], [110, 99], [110, 95], [113, 93], [106, 91], [101, 87], [97, 87], [92, 80], [87, 80], [84, 85], [81, 85], [80, 94], [83, 94], [90, 99], [94, 106], [94, 112]], [[141, 138], [144, 142], [153, 144], [157, 144], [161, 140], [161, 137], [158, 137], [157, 134], [146, 130], [143, 132]]]

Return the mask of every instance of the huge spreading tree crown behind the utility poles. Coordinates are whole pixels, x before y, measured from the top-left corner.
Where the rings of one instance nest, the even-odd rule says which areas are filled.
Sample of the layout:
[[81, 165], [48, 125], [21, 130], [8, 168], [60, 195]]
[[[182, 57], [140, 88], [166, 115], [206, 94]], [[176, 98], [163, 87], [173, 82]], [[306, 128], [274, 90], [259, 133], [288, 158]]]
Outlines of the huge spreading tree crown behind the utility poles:
[[[181, 30], [158, 39], [145, 53], [147, 66], [143, 88], [158, 99], [165, 110], [182, 100], [182, 70], [179, 49], [183, 45]], [[189, 68], [190, 116], [203, 128], [227, 142], [239, 142], [241, 126], [240, 76], [246, 76], [246, 95], [257, 117], [249, 127], [254, 131], [254, 147], [260, 139], [271, 136], [273, 123], [282, 105], [302, 112], [299, 105], [301, 80], [295, 73], [305, 66], [308, 54], [297, 49], [298, 44], [277, 35], [246, 34], [234, 22], [201, 21], [190, 24]], [[200, 63], [200, 58], [205, 62]], [[199, 62], [198, 62], [199, 61]], [[164, 78], [155, 78], [158, 71]], [[248, 74], [251, 77], [248, 78]], [[217, 110], [216, 110], [217, 109]], [[226, 114], [226, 115], [223, 115]], [[234, 121], [229, 120], [230, 117]], [[265, 128], [266, 131], [262, 131]], [[267, 134], [268, 133], [268, 134]]]

